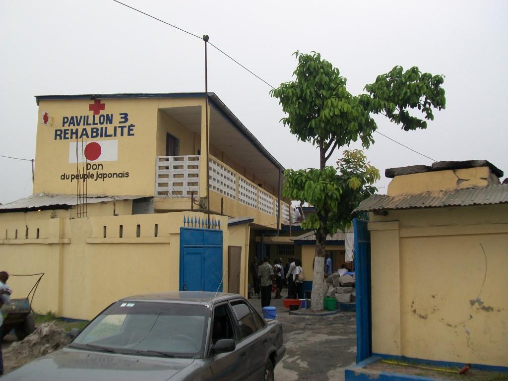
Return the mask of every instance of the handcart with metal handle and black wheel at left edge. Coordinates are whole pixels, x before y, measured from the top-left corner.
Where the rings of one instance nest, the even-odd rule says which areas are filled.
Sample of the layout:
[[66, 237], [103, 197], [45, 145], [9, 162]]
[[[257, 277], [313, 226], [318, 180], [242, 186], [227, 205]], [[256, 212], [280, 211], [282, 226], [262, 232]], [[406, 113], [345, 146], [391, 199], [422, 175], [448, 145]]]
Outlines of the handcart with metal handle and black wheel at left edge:
[[34, 287], [28, 292], [26, 298], [11, 299], [10, 303], [5, 303], [0, 312], [4, 315], [4, 323], [2, 325], [2, 338], [9, 332], [14, 330], [18, 340], [23, 340], [30, 333], [35, 331], [34, 314], [31, 303], [34, 300], [37, 286], [41, 281], [44, 273], [33, 275], [9, 275], [11, 276], [34, 276], [40, 275], [34, 284]]

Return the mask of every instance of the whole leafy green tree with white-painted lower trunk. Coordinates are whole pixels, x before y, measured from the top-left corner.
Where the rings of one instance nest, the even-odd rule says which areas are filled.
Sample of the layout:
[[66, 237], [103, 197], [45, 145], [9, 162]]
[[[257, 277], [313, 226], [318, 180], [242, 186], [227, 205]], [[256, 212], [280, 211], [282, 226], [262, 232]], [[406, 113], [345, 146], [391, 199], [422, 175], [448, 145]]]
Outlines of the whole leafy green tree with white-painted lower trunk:
[[418, 67], [404, 71], [396, 66], [367, 84], [365, 93], [354, 96], [347, 91], [339, 70], [319, 53], [297, 51], [294, 55], [298, 60], [293, 73], [296, 80], [281, 83], [270, 93], [287, 114], [282, 123], [299, 140], [319, 148], [320, 169], [285, 171], [283, 194], [316, 208], [315, 216], [305, 220], [302, 227], [313, 229], [316, 235], [311, 305], [313, 310], [321, 310], [326, 236], [351, 223], [352, 205], [375, 191], [371, 181], [379, 176], [361, 151], [345, 151], [338, 162], [338, 174], [327, 167], [327, 161], [337, 147], [358, 139], [365, 148], [374, 143], [372, 134], [377, 124], [372, 114], [385, 115], [405, 131], [427, 128], [427, 122], [408, 109], [418, 109], [425, 119], [433, 120], [432, 110], [443, 109], [446, 104], [441, 87], [444, 78], [421, 73]]

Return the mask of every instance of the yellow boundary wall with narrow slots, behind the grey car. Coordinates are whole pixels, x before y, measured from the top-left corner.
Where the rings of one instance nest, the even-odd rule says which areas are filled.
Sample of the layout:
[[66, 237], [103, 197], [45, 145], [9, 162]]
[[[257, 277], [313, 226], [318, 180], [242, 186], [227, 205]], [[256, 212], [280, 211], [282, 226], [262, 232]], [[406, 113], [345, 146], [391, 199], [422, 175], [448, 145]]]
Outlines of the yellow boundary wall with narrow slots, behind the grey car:
[[[111, 302], [125, 296], [177, 291], [183, 217], [205, 217], [204, 213], [173, 212], [66, 218], [67, 211], [51, 213], [0, 215], [0, 232], [4, 232], [0, 236], [2, 270], [10, 274], [44, 272], [33, 308], [37, 312], [53, 311], [73, 319], [91, 319]], [[213, 218], [220, 220], [224, 232], [223, 290], [227, 292], [228, 245], [241, 246], [240, 293], [246, 295], [248, 224], [228, 231], [227, 216], [214, 215]], [[34, 231], [30, 227], [40, 227], [39, 239], [19, 235], [25, 224], [29, 234]], [[119, 237], [120, 225], [122, 238]], [[155, 225], [157, 237], [154, 236]], [[10, 236], [14, 227], [18, 227], [17, 238]], [[9, 284], [13, 298], [26, 297], [36, 279], [12, 276]]]

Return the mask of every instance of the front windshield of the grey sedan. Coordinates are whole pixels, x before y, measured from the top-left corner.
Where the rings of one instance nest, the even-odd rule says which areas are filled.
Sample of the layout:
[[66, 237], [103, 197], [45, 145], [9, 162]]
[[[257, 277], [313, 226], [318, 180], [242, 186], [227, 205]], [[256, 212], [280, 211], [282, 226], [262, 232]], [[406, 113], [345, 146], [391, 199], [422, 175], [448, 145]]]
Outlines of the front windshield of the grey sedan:
[[80, 332], [71, 346], [145, 356], [199, 357], [207, 316], [203, 305], [116, 302]]

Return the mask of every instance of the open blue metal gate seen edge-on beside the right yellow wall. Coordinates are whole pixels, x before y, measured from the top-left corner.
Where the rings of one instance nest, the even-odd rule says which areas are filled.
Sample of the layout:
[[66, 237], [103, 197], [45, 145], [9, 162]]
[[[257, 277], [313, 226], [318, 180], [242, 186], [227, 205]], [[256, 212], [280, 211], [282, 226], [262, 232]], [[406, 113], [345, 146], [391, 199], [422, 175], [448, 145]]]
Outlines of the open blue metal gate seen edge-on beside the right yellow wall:
[[356, 362], [372, 355], [370, 233], [367, 221], [353, 219], [356, 270]]

